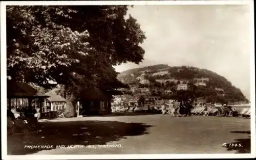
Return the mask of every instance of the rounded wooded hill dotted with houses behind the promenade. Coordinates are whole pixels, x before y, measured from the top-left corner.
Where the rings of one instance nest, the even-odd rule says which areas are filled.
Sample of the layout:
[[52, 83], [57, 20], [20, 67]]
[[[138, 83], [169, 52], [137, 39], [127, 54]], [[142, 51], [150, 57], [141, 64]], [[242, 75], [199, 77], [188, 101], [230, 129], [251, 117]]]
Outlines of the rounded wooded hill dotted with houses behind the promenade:
[[207, 102], [248, 102], [240, 89], [215, 72], [190, 66], [155, 65], [121, 72], [119, 81], [128, 84], [133, 94], [171, 98], [186, 96]]

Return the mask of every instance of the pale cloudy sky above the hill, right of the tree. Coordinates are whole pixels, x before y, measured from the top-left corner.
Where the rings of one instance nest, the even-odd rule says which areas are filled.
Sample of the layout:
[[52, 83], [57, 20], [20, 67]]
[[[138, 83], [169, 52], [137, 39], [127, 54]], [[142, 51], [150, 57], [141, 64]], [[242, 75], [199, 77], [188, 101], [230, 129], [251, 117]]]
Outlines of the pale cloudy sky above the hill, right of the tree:
[[139, 65], [194, 66], [218, 73], [250, 99], [250, 12], [246, 5], [134, 6], [146, 40]]

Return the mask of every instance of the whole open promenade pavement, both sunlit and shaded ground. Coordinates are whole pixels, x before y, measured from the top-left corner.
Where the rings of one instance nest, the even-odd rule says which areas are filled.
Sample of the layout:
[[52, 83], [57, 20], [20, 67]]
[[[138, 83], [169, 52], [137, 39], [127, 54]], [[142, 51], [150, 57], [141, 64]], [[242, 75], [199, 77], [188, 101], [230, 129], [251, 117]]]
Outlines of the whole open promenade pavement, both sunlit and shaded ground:
[[[43, 136], [28, 139], [23, 145], [83, 147], [40, 151], [13, 149], [14, 154], [236, 153], [248, 152], [250, 144], [250, 119], [234, 117], [80, 117], [55, 119], [41, 124], [48, 128], [42, 133]], [[243, 143], [244, 148], [227, 150], [221, 146], [231, 142]], [[98, 144], [114, 144], [115, 148], [104, 148]]]

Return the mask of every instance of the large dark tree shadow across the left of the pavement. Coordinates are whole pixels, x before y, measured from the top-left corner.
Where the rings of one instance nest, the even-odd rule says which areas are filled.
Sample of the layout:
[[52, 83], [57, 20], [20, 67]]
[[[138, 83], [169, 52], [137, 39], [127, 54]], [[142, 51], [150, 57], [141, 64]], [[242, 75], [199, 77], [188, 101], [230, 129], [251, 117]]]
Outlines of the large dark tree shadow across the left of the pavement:
[[41, 132], [27, 135], [8, 136], [8, 154], [25, 155], [40, 150], [27, 149], [25, 145], [104, 145], [108, 142], [125, 139], [126, 136], [148, 134], [151, 125], [143, 123], [124, 123], [118, 121], [69, 121], [69, 122], [40, 122]]

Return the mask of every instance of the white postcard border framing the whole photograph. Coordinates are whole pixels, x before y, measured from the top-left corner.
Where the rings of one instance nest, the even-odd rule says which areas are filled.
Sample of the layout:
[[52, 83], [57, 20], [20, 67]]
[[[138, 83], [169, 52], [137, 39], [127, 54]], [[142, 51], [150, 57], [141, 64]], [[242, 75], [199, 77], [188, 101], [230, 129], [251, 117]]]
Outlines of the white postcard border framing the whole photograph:
[[[6, 6], [8, 5], [243, 5], [251, 6], [250, 100], [251, 100], [251, 153], [250, 154], [112, 154], [112, 155], [7, 155], [7, 80], [6, 76]], [[1, 2], [1, 106], [3, 159], [152, 159], [152, 158], [253, 158], [255, 157], [255, 62], [253, 1], [38, 1]]]

